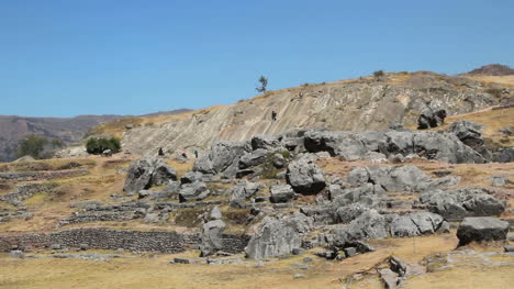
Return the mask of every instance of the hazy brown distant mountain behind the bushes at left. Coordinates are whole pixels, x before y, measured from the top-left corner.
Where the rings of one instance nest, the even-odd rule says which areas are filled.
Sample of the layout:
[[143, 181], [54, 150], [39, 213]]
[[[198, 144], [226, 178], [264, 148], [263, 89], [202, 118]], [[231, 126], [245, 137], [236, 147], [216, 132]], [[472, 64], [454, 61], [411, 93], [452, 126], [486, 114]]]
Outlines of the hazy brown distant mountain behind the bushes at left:
[[[158, 116], [187, 111], [189, 110], [159, 111], [146, 115]], [[0, 115], [0, 162], [15, 159], [18, 144], [26, 135], [36, 134], [48, 140], [60, 140], [65, 145], [69, 145], [82, 140], [90, 127], [125, 116], [127, 115], [78, 115], [75, 118]]]

